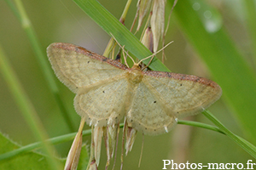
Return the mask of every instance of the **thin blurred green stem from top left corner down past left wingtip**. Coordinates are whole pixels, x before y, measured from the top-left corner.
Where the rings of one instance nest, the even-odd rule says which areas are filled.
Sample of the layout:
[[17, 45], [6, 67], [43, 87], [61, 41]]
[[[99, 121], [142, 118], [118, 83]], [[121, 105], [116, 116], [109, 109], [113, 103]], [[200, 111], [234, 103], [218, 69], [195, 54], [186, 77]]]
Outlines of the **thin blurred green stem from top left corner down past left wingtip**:
[[36, 54], [36, 59], [38, 59], [38, 64], [41, 66], [41, 70], [44, 73], [44, 78], [45, 78], [46, 82], [48, 83], [51, 92], [55, 96], [55, 101], [57, 102], [57, 104], [61, 110], [62, 116], [64, 117], [65, 121], [67, 122], [67, 126], [70, 128], [71, 131], [75, 131], [74, 125], [71, 122], [71, 118], [67, 113], [67, 109], [64, 106], [63, 101], [61, 100], [61, 96], [60, 96], [59, 89], [57, 87], [55, 75], [54, 75], [52, 69], [50, 68], [49, 61], [46, 57], [46, 53], [45, 53], [46, 49], [44, 49], [44, 52], [43, 52], [42, 48], [40, 47], [38, 37], [36, 36], [35, 31], [32, 29], [32, 23], [26, 15], [25, 8], [23, 8], [23, 4], [21, 3], [20, 0], [15, 0], [15, 4], [17, 7], [17, 8], [15, 8], [15, 6], [12, 2], [10, 2], [9, 0], [5, 0], [5, 1], [6, 1], [6, 3], [9, 4], [9, 7], [12, 9], [15, 16], [18, 18], [18, 20], [20, 20], [20, 24], [23, 27], [24, 31], [26, 31], [26, 35], [27, 35], [29, 41], [31, 42], [32, 49], [33, 49], [34, 53]]

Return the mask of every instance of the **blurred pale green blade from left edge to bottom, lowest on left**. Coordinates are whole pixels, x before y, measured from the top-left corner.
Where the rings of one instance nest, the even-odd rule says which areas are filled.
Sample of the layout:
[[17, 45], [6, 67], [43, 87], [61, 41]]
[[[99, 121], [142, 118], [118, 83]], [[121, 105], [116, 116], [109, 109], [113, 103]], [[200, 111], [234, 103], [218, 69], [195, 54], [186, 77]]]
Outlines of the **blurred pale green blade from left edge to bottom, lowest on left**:
[[[39, 117], [33, 108], [32, 103], [26, 96], [23, 88], [21, 88], [20, 82], [15, 75], [15, 71], [13, 71], [12, 67], [9, 64], [8, 59], [3, 54], [3, 49], [0, 46], [0, 71], [3, 73], [3, 77], [8, 83], [9, 90], [15, 99], [15, 102], [20, 108], [22, 116], [26, 120], [28, 126], [31, 128], [32, 133], [36, 137], [36, 139], [40, 141], [44, 141], [47, 139], [47, 134], [44, 130], [44, 126], [39, 120]], [[52, 169], [60, 169], [59, 165], [54, 160], [54, 149], [51, 145], [47, 143], [44, 144], [44, 151], [49, 155], [49, 163]]]

